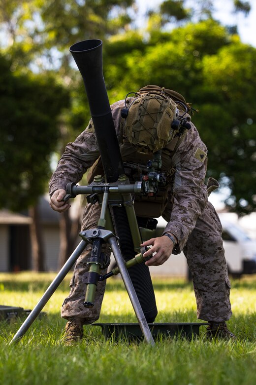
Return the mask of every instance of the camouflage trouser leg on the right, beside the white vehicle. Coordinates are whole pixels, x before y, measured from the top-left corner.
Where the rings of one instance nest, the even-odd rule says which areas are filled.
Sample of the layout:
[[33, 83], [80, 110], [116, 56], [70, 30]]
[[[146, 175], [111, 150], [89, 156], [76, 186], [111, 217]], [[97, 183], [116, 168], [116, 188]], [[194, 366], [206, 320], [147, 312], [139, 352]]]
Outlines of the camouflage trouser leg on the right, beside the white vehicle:
[[205, 321], [226, 321], [232, 314], [221, 234], [219, 217], [208, 202], [183, 248], [192, 272], [197, 317]]

